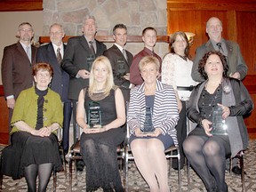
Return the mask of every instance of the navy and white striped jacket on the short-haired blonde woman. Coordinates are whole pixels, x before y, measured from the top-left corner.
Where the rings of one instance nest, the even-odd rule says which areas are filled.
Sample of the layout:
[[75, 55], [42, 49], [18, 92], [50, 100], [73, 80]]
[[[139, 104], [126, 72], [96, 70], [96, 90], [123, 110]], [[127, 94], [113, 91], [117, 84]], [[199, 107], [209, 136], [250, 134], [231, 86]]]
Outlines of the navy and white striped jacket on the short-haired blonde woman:
[[[141, 108], [146, 107], [145, 84], [137, 85], [131, 90], [131, 100], [128, 109], [127, 123], [133, 134], [140, 127]], [[178, 144], [175, 126], [179, 120], [178, 104], [174, 90], [171, 85], [162, 84], [156, 80], [156, 94], [154, 100], [152, 123], [154, 127], [160, 128], [162, 134], [169, 134]]]

